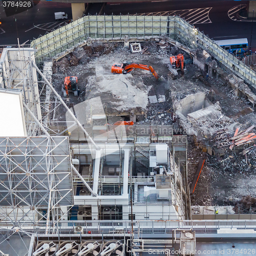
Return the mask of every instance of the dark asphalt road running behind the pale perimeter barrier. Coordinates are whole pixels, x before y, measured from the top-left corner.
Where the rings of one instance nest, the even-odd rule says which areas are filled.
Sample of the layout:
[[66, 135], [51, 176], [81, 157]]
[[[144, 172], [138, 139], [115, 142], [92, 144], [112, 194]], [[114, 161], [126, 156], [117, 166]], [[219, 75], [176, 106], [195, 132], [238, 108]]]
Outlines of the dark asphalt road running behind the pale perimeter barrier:
[[[108, 3], [104, 12], [108, 15], [114, 13], [122, 14], [142, 14], [151, 12], [173, 12], [178, 10], [198, 9], [195, 11], [193, 23], [204, 31], [206, 35], [215, 40], [243, 38], [246, 37], [250, 43], [251, 22], [241, 22], [232, 20], [228, 16], [228, 10], [234, 6], [246, 4], [247, 1], [159, 1], [153, 0], [151, 3]], [[95, 14], [97, 8], [90, 8], [90, 14]], [[17, 36], [20, 44], [27, 40], [44, 35], [51, 29], [56, 29], [63, 22], [56, 22], [54, 12], [63, 11], [68, 13], [71, 18], [71, 4], [59, 4], [54, 2], [39, 2], [34, 8], [16, 14], [15, 16], [6, 17], [3, 5], [0, 4], [0, 45], [17, 44]], [[183, 11], [184, 12], [184, 11]], [[207, 14], [208, 19], [202, 20], [202, 13]], [[198, 16], [198, 18], [197, 18]], [[186, 16], [185, 16], [186, 17]], [[16, 22], [15, 22], [16, 19]], [[201, 23], [204, 22], [204, 23]], [[256, 20], [255, 20], [256, 23]], [[256, 24], [253, 23], [253, 31], [256, 31]], [[17, 28], [16, 28], [17, 26]], [[256, 33], [252, 35], [252, 50], [256, 50]]]

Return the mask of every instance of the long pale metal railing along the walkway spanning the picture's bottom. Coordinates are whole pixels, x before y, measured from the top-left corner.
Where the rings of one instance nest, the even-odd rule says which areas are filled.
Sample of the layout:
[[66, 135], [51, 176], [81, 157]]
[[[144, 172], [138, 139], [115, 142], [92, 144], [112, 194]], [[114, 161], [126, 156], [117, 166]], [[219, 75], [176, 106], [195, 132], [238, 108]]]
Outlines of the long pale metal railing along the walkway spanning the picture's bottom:
[[[45, 233], [45, 222], [37, 225], [24, 222], [19, 231], [29, 233]], [[50, 233], [72, 234], [75, 227], [81, 226], [83, 233], [111, 234], [132, 233], [154, 234], [172, 233], [175, 229], [193, 229], [196, 233], [217, 233], [221, 228], [253, 229], [256, 230], [256, 220], [182, 220], [182, 221], [59, 221], [57, 228]], [[0, 233], [15, 232], [16, 227], [2, 224]]]

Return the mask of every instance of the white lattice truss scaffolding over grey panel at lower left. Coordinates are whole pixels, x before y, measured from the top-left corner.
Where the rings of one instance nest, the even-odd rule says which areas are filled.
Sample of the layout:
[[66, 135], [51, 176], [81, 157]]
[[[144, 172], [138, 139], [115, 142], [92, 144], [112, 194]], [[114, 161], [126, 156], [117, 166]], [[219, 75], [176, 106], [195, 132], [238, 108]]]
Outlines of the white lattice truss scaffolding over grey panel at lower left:
[[44, 220], [55, 233], [74, 204], [68, 137], [0, 138], [0, 177], [1, 228]]

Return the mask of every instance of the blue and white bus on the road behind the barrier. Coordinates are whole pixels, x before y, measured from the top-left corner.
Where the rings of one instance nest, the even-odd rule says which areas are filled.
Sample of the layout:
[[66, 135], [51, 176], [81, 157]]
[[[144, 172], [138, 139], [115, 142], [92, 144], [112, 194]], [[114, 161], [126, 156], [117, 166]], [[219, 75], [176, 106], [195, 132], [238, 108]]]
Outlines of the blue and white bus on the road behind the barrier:
[[248, 51], [247, 38], [219, 40], [215, 41], [215, 43], [231, 54], [240, 54]]

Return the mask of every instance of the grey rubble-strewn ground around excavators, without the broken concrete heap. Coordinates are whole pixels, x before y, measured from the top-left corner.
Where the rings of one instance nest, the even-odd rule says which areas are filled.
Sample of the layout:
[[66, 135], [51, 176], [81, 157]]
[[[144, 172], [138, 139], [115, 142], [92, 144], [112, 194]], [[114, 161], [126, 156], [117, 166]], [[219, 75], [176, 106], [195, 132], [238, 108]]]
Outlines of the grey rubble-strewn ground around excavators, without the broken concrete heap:
[[[178, 77], [167, 69], [170, 54], [184, 53], [176, 47], [168, 51], [159, 49], [156, 41], [142, 43], [142, 48], [148, 47], [148, 54], [131, 54], [129, 49], [119, 43], [86, 46], [76, 49], [72, 54], [62, 58], [53, 67], [53, 86], [59, 94], [66, 76], [77, 76], [80, 96], [70, 96], [70, 107], [100, 96], [103, 109], [106, 113], [124, 111], [144, 111], [146, 115], [135, 124], [173, 124], [177, 132], [182, 133], [179, 120], [174, 114], [173, 100], [180, 100], [189, 94], [204, 92], [208, 100], [215, 104], [219, 102], [221, 112], [229, 117], [233, 123], [241, 126], [241, 130], [252, 124], [256, 125], [254, 112], [236, 117], [236, 114], [249, 106], [243, 98], [234, 96], [231, 88], [218, 79], [205, 79], [206, 72], [193, 64], [186, 65], [184, 75]], [[190, 56], [184, 53], [185, 59]], [[191, 60], [191, 59], [190, 59]], [[151, 65], [156, 70], [160, 79], [148, 71], [135, 70], [131, 74], [112, 74], [111, 66], [118, 62], [132, 61]], [[191, 62], [191, 61], [190, 61]], [[200, 73], [201, 79], [195, 74]], [[162, 87], [165, 101], [150, 103], [147, 98], [148, 87], [153, 86], [157, 95], [158, 88]], [[59, 120], [65, 120], [65, 110], [57, 113]], [[234, 118], [236, 117], [236, 118]], [[209, 125], [209, 124], [205, 124]], [[221, 129], [222, 125], [219, 124]], [[210, 127], [205, 126], [205, 129]], [[253, 130], [255, 132], [255, 129]], [[252, 132], [253, 132], [252, 131]], [[233, 135], [234, 131], [230, 131]], [[210, 138], [203, 138], [203, 143], [213, 144]], [[205, 164], [198, 180], [194, 195], [191, 197], [192, 205], [237, 205], [244, 203], [244, 197], [256, 197], [256, 179], [254, 157], [256, 151], [247, 156], [240, 154], [244, 145], [236, 151], [225, 149], [216, 156], [203, 153], [195, 144], [193, 136], [188, 136], [188, 182], [190, 183], [197, 169], [200, 159], [205, 159]], [[253, 150], [253, 148], [252, 148]], [[232, 156], [229, 158], [229, 156]], [[228, 157], [228, 160], [224, 160]], [[223, 161], [224, 160], [224, 161]], [[253, 200], [247, 198], [247, 201]], [[256, 201], [255, 201], [256, 202]], [[248, 205], [247, 205], [248, 206]], [[248, 208], [248, 207], [247, 207]]]

